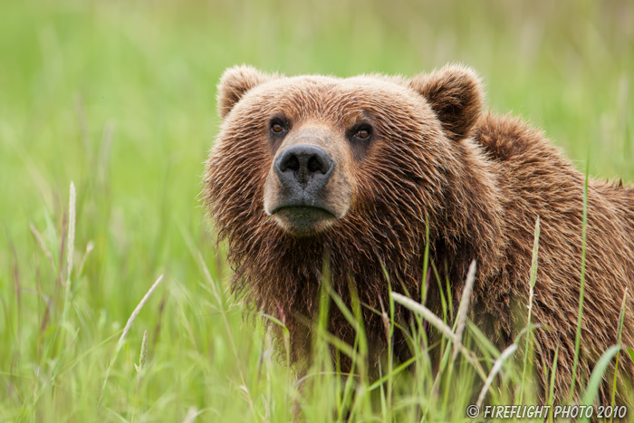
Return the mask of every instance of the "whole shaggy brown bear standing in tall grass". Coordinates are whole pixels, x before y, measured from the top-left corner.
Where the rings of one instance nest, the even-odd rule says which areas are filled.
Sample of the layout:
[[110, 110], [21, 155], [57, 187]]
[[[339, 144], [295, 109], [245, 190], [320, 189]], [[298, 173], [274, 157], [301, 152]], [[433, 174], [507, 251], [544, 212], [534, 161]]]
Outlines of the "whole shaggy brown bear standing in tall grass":
[[[584, 175], [540, 131], [483, 112], [476, 73], [458, 65], [411, 79], [283, 77], [227, 70], [222, 128], [207, 162], [205, 204], [228, 245], [233, 286], [284, 317], [293, 361], [308, 357], [324, 257], [331, 288], [351, 305], [353, 282], [378, 361], [388, 342], [379, 312], [389, 287], [442, 315], [438, 284], [421, 299], [426, 246], [432, 279], [450, 281], [454, 310], [472, 260], [471, 318], [500, 348], [527, 323], [536, 220], [541, 222], [532, 322], [542, 396], [558, 351], [555, 397], [571, 389], [581, 286]], [[590, 180], [585, 302], [577, 380], [600, 355], [634, 345], [634, 189]], [[391, 281], [391, 285], [388, 281]], [[378, 312], [379, 311], [379, 312]], [[408, 319], [397, 307], [396, 318]], [[350, 344], [331, 307], [329, 330]], [[395, 334], [395, 352], [408, 356]], [[620, 391], [634, 367], [621, 354]], [[345, 365], [344, 365], [345, 367]], [[606, 373], [600, 400], [610, 403]], [[581, 392], [577, 383], [574, 395]]]

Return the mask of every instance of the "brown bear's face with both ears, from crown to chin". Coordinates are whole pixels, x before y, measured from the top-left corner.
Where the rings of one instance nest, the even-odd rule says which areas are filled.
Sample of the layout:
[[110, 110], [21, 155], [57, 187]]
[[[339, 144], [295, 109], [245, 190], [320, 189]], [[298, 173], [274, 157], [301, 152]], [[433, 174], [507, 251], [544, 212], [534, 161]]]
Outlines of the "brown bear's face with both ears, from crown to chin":
[[244, 206], [261, 205], [261, 223], [271, 216], [292, 236], [341, 230], [346, 218], [366, 218], [362, 207], [415, 207], [420, 220], [447, 184], [437, 158], [453, 155], [450, 144], [466, 136], [481, 102], [475, 74], [456, 66], [410, 81], [233, 68], [219, 85], [225, 122], [209, 168], [252, 182], [266, 175], [264, 192], [259, 183], [251, 191], [260, 198], [245, 197]]

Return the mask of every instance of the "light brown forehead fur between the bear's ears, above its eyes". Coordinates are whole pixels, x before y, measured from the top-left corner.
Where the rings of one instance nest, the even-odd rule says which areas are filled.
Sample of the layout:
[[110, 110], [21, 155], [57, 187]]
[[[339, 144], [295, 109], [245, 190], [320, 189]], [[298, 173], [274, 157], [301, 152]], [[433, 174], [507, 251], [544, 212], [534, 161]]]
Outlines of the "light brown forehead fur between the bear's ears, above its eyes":
[[425, 102], [402, 78], [382, 75], [284, 77], [265, 82], [253, 94], [267, 109], [290, 117], [331, 115], [345, 120], [397, 110], [412, 114]]

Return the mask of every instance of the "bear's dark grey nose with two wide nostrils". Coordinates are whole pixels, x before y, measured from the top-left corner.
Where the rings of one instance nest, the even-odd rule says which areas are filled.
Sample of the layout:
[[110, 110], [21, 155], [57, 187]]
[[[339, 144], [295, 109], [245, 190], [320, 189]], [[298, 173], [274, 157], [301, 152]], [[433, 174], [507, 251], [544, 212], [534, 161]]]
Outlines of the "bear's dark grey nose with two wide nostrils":
[[275, 173], [286, 187], [299, 184], [323, 187], [331, 177], [334, 161], [326, 150], [308, 144], [285, 149], [275, 160]]

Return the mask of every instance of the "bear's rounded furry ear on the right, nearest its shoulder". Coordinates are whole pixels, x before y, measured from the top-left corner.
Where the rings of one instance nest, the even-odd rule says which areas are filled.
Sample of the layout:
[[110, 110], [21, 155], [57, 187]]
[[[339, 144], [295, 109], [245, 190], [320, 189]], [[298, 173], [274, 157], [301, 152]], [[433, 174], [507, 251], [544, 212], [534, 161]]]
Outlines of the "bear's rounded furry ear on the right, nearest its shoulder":
[[461, 65], [421, 73], [409, 81], [436, 113], [449, 139], [463, 139], [482, 112], [484, 94], [476, 72]]

